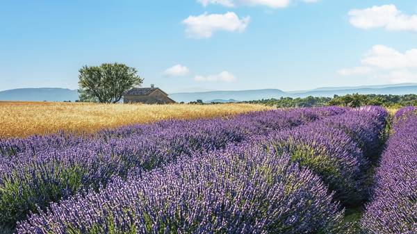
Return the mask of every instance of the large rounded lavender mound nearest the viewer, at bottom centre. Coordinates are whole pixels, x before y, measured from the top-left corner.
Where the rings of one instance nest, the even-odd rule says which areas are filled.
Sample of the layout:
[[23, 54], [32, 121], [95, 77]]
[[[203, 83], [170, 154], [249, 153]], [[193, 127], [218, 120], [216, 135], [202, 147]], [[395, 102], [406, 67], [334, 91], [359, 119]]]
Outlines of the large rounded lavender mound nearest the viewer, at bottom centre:
[[186, 158], [19, 224], [26, 233], [342, 233], [327, 187], [289, 156], [231, 147]]

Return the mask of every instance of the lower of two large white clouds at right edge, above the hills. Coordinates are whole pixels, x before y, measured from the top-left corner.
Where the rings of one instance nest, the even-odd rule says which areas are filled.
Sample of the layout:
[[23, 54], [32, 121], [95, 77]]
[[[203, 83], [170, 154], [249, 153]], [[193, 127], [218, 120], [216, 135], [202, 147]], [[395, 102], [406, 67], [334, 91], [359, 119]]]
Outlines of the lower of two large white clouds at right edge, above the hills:
[[359, 67], [337, 71], [342, 76], [373, 75], [379, 81], [404, 83], [417, 81], [417, 49], [404, 53], [382, 44], [373, 46], [361, 58]]

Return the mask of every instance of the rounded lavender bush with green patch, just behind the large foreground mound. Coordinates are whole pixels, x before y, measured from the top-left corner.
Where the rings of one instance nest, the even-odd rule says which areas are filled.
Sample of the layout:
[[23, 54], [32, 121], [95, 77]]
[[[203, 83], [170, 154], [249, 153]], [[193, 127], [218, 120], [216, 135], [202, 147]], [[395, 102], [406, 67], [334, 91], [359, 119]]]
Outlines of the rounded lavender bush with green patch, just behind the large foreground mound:
[[292, 161], [318, 174], [344, 205], [363, 199], [361, 181], [368, 160], [343, 131], [315, 124], [270, 135], [259, 142], [265, 149], [287, 152]]

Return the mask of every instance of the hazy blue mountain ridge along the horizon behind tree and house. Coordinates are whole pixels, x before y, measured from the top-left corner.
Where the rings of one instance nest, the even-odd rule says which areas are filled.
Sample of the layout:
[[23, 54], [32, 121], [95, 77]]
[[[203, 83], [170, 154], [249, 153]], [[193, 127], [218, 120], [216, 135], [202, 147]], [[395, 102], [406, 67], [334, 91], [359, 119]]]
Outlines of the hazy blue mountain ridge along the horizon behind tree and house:
[[[223, 90], [205, 92], [174, 92], [170, 98], [177, 102], [190, 102], [201, 99], [210, 101], [252, 101], [259, 99], [279, 99], [281, 97], [333, 97], [345, 94], [417, 94], [417, 83], [393, 85], [362, 85], [356, 87], [318, 87], [313, 90], [285, 92], [279, 89]], [[77, 90], [59, 87], [19, 88], [0, 91], [0, 101], [76, 101]]]

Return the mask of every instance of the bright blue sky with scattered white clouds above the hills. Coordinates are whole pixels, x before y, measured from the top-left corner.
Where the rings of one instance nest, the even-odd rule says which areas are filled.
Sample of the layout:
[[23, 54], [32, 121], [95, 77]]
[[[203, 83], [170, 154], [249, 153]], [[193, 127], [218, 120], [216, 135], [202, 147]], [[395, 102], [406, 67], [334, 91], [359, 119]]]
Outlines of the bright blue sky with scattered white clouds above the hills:
[[[309, 1], [309, 2], [306, 2]], [[2, 1], [0, 90], [76, 89], [122, 62], [143, 86], [307, 90], [417, 82], [416, 1]]]

